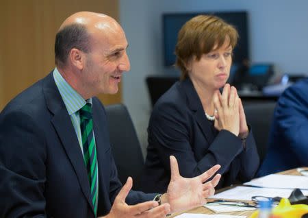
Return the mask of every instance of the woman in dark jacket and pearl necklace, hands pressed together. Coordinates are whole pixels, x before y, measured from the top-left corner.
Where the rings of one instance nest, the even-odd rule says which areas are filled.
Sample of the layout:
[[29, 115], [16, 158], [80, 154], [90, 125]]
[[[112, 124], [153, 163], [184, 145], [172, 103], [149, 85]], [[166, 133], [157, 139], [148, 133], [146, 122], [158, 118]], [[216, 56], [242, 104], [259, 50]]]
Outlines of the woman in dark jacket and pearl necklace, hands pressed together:
[[187, 178], [221, 165], [218, 187], [254, 177], [255, 140], [236, 88], [226, 84], [237, 41], [236, 29], [216, 16], [195, 16], [179, 31], [175, 53], [181, 80], [153, 108], [143, 191], [166, 191], [170, 155]]

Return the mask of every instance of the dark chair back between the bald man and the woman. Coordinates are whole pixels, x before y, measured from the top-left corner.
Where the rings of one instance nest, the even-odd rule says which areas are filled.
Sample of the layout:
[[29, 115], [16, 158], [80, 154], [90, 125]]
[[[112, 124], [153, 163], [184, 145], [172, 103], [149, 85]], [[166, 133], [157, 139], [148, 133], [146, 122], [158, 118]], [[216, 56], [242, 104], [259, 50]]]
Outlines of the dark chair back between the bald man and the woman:
[[125, 184], [127, 178], [131, 176], [133, 178], [133, 189], [140, 190], [144, 159], [129, 112], [123, 104], [106, 106], [105, 109], [112, 154], [118, 169], [118, 178]]

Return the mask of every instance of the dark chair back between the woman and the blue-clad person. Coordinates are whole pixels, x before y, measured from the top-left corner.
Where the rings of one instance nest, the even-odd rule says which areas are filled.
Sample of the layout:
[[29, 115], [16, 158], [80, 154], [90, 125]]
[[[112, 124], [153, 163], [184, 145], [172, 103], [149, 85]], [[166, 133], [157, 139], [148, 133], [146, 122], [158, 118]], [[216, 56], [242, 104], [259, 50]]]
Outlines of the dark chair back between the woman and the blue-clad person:
[[268, 138], [270, 125], [276, 101], [258, 102], [255, 104], [244, 104], [246, 121], [253, 130], [257, 151], [260, 157], [260, 164], [266, 156], [268, 150]]

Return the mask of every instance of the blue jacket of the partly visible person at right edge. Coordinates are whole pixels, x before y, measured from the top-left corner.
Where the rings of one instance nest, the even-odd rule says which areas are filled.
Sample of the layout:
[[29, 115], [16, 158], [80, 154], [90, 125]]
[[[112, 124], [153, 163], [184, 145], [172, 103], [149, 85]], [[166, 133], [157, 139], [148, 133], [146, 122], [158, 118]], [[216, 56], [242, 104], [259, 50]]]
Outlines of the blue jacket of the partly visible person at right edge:
[[308, 166], [308, 79], [283, 92], [274, 110], [268, 154], [258, 176]]

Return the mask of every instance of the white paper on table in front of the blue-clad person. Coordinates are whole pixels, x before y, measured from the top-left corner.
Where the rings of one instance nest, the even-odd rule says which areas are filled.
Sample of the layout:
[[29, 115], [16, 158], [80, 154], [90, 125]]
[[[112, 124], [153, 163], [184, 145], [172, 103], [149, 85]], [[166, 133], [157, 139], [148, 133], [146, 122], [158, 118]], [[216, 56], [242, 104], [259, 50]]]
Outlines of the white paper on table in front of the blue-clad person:
[[308, 189], [308, 177], [301, 175], [270, 174], [244, 184], [275, 189]]

